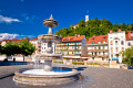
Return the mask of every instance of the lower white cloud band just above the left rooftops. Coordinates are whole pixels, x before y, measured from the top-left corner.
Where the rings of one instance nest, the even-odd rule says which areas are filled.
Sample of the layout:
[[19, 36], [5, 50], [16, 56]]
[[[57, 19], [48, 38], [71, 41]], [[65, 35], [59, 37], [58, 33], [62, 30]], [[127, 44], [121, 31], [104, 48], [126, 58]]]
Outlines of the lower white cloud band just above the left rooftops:
[[19, 34], [10, 34], [10, 33], [0, 33], [0, 41], [2, 40], [12, 40], [12, 38], [23, 38], [23, 37], [34, 37], [33, 35], [19, 35]]

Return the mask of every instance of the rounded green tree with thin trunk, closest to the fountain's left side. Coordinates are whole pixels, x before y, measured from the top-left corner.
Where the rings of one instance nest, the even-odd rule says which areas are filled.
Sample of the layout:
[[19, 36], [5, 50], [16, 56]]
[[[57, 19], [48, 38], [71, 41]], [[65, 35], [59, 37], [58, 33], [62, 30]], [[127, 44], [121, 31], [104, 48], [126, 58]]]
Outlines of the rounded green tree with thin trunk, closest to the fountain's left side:
[[35, 46], [33, 46], [33, 44], [31, 44], [28, 41], [22, 41], [22, 43], [20, 44], [20, 48], [21, 48], [21, 54], [23, 55], [23, 62], [24, 62], [24, 56], [32, 55], [35, 52]]

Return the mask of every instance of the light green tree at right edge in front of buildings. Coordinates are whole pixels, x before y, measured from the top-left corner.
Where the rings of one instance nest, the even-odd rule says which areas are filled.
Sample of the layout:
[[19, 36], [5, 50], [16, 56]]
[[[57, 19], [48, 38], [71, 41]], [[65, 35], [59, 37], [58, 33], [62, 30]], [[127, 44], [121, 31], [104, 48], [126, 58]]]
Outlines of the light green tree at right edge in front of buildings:
[[133, 46], [123, 51], [122, 57], [123, 57], [122, 59], [123, 63], [127, 65], [133, 65]]

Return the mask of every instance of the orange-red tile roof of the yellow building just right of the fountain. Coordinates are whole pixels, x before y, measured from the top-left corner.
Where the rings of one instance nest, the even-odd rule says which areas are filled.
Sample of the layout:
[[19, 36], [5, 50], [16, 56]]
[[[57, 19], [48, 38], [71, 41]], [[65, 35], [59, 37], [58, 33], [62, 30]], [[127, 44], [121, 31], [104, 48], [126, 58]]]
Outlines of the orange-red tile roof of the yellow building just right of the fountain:
[[85, 37], [84, 35], [66, 36], [62, 38], [62, 42], [81, 42]]

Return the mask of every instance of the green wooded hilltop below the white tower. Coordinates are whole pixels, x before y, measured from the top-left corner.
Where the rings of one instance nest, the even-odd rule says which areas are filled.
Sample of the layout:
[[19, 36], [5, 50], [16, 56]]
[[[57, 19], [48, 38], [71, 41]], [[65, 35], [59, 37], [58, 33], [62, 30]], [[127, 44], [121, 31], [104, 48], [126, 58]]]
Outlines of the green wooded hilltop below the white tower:
[[85, 35], [86, 40], [93, 35], [105, 35], [110, 30], [117, 31], [117, 29], [122, 29], [122, 31], [133, 31], [132, 24], [112, 24], [111, 21], [102, 19], [91, 19], [85, 22], [81, 20], [76, 25], [70, 25], [69, 28], [63, 28], [60, 31], [55, 31], [55, 35], [62, 36], [73, 36], [74, 34]]

